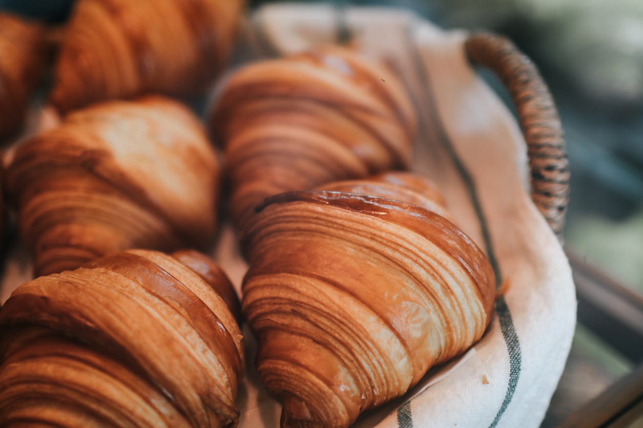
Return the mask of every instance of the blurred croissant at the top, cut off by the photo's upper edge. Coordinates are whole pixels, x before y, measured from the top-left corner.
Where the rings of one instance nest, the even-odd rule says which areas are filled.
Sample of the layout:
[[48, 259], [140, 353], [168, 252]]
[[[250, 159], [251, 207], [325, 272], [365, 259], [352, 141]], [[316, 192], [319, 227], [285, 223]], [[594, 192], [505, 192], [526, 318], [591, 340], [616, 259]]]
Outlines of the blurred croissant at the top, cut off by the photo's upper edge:
[[203, 90], [231, 51], [242, 0], [80, 0], [55, 65], [60, 111]]

